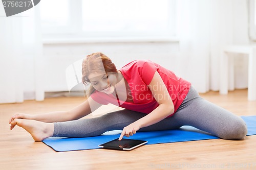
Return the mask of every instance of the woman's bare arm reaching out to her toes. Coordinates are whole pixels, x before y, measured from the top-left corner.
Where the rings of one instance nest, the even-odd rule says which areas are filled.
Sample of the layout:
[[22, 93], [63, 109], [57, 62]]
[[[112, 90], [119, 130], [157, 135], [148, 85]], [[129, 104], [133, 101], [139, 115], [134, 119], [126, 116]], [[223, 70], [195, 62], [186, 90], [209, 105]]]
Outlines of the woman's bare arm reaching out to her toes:
[[34, 119], [47, 123], [76, 120], [90, 114], [100, 106], [101, 104], [95, 102], [91, 97], [89, 97], [88, 100], [69, 111], [56, 111], [44, 114], [16, 113], [9, 119], [9, 123], [12, 122], [14, 118]]

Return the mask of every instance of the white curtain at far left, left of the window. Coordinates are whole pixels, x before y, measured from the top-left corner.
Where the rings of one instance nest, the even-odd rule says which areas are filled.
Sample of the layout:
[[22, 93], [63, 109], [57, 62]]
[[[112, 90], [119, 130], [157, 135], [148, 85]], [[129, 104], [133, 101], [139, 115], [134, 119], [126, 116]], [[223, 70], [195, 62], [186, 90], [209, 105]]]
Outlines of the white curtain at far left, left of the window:
[[0, 103], [23, 102], [26, 90], [44, 100], [39, 6], [5, 17], [0, 5], [0, 16]]

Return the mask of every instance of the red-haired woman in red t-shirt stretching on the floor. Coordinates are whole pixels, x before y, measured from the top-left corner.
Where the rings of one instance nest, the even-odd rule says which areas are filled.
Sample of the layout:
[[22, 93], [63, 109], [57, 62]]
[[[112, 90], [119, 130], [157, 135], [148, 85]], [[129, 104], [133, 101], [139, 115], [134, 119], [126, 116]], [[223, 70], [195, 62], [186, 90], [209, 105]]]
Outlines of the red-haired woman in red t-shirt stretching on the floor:
[[[223, 139], [243, 139], [247, 134], [241, 117], [204, 100], [189, 82], [150, 60], [132, 61], [118, 70], [104, 54], [94, 53], [83, 60], [82, 82], [91, 87], [79, 106], [45, 114], [16, 113], [9, 119], [10, 129], [20, 126], [35, 141], [97, 136], [111, 130], [122, 130], [121, 140], [138, 131], [184, 125]], [[109, 103], [124, 109], [80, 119]]]

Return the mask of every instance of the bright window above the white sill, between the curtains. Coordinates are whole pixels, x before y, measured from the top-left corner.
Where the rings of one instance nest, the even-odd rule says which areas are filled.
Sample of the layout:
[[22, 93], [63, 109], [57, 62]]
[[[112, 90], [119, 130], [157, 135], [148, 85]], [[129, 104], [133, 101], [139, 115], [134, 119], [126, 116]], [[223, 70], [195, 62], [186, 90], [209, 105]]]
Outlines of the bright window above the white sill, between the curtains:
[[176, 36], [175, 0], [44, 0], [44, 37]]

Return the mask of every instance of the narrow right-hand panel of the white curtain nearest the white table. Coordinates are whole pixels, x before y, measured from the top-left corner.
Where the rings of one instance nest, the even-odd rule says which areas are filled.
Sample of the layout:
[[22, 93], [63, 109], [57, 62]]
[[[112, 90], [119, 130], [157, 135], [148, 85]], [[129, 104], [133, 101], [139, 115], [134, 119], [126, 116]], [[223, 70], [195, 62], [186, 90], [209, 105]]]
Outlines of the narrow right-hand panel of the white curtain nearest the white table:
[[223, 48], [233, 44], [232, 0], [211, 1], [210, 5], [210, 89], [219, 90], [220, 57]]

